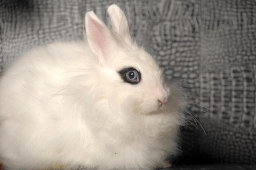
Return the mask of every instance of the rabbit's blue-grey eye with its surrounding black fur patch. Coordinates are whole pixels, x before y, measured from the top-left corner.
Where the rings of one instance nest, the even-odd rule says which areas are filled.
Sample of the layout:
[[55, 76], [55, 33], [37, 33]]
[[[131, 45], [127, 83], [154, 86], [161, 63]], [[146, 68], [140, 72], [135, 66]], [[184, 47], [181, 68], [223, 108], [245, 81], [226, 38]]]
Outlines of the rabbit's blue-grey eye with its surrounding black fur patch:
[[123, 68], [118, 73], [126, 83], [138, 84], [141, 81], [141, 73], [133, 67]]

